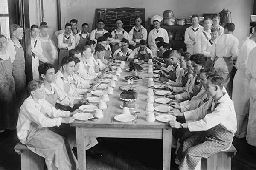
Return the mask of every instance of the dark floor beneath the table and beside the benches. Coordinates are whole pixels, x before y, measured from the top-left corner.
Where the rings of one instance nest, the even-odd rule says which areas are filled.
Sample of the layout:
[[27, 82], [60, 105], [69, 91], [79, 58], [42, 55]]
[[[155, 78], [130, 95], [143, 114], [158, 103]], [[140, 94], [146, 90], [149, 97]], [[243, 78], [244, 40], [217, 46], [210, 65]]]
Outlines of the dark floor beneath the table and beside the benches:
[[[160, 139], [98, 139], [96, 150], [103, 158], [87, 156], [88, 170], [161, 170], [162, 146]], [[0, 170], [20, 170], [20, 156], [13, 147], [18, 140], [14, 130], [0, 135]], [[256, 170], [256, 155], [249, 152], [245, 139], [234, 139], [238, 150], [232, 159], [232, 170]], [[75, 151], [76, 152], [76, 151]], [[174, 150], [172, 152], [174, 154]], [[172, 156], [175, 158], [175, 156]], [[172, 160], [172, 170], [178, 170]]]

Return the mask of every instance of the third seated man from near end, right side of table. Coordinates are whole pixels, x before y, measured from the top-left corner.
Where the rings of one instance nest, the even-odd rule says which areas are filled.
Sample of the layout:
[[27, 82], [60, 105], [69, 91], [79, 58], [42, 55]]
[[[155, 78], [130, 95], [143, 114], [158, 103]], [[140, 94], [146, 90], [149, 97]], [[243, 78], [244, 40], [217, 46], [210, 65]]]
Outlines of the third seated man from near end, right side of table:
[[190, 100], [193, 96], [196, 96], [203, 88], [203, 85], [202, 83], [200, 83], [199, 80], [199, 74], [200, 70], [204, 68], [207, 58], [204, 56], [204, 54], [194, 54], [190, 57], [190, 60], [192, 62], [192, 70], [194, 77], [190, 84], [188, 85], [188, 88], [186, 89], [185, 92], [181, 94], [166, 94], [166, 97], [170, 99], [175, 99], [178, 102], [183, 102], [185, 100]]

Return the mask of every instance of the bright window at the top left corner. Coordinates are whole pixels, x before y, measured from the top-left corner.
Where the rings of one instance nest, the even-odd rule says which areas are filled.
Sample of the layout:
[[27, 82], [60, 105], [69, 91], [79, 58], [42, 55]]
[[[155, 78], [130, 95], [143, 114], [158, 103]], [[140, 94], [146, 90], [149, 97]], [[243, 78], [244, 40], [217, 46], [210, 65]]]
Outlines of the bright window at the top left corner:
[[8, 0], [1, 0], [0, 3], [0, 34], [10, 37]]

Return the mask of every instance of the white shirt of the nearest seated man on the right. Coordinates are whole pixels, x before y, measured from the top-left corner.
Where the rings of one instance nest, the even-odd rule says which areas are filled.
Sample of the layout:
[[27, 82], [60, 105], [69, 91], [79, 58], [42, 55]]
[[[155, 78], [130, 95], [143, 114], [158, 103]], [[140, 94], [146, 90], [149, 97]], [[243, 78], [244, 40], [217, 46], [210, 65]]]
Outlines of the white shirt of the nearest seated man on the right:
[[[188, 129], [191, 132], [194, 131], [206, 131], [221, 125], [231, 133], [236, 132], [236, 112], [234, 109], [234, 103], [230, 99], [227, 93], [216, 102], [220, 103], [214, 109], [215, 102], [213, 99], [201, 105], [199, 108], [184, 112], [186, 122], [188, 122]], [[211, 113], [207, 114], [207, 110], [211, 108]]]

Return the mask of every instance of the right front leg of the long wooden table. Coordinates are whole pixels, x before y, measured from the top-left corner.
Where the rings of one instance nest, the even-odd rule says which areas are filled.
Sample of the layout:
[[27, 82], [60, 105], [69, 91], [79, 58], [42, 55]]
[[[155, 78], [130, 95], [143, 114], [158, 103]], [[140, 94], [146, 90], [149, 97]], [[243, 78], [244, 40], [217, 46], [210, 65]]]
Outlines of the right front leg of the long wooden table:
[[163, 129], [163, 170], [171, 168], [172, 128]]

